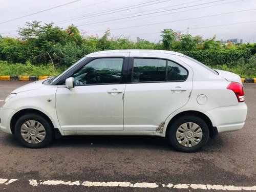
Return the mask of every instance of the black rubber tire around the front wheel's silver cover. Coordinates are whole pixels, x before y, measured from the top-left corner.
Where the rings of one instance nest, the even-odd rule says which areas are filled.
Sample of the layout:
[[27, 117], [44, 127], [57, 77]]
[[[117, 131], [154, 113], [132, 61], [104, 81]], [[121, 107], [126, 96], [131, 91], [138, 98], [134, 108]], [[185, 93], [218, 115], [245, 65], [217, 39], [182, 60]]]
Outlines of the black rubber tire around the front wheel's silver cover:
[[[39, 143], [29, 143], [22, 137], [21, 133], [21, 127], [22, 125], [27, 122], [27, 121], [37, 121], [39, 122], [42, 126], [44, 126], [45, 129], [45, 138], [42, 139], [41, 142]], [[39, 114], [25, 114], [21, 116], [15, 123], [15, 136], [17, 140], [22, 143], [24, 146], [29, 147], [29, 148], [42, 148], [47, 145], [50, 145], [53, 141], [53, 127], [51, 123], [46, 119], [45, 117], [39, 115]], [[32, 140], [32, 139], [31, 139]], [[31, 142], [31, 141], [30, 141]]]

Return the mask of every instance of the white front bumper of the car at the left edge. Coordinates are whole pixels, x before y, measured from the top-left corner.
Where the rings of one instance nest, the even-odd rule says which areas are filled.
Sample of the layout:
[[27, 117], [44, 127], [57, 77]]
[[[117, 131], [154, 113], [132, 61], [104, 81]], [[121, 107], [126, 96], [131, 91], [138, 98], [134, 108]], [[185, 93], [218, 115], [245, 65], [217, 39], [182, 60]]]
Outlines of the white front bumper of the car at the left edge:
[[10, 127], [10, 122], [12, 116], [16, 113], [16, 110], [8, 109], [8, 108], [0, 108], [0, 129], [5, 132], [11, 134], [11, 127]]

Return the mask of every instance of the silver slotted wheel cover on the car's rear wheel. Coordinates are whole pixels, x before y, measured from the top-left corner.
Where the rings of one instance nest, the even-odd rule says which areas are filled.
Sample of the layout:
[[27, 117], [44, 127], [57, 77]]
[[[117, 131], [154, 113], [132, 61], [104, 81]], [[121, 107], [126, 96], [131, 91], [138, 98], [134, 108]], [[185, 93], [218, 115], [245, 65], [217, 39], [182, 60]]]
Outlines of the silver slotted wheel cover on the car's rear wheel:
[[185, 147], [196, 146], [203, 137], [203, 131], [197, 123], [186, 122], [180, 125], [176, 131], [177, 141]]

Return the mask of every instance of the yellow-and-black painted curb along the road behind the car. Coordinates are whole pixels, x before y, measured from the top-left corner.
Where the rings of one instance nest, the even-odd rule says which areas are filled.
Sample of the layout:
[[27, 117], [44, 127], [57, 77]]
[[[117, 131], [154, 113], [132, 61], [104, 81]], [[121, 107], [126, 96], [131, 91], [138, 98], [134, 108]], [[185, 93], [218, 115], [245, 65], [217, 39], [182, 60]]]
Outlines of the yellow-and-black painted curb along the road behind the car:
[[[0, 80], [10, 80], [10, 81], [37, 81], [42, 79], [47, 79], [50, 76], [10, 76], [3, 75], [0, 76]], [[256, 83], [256, 78], [241, 78], [243, 83]]]

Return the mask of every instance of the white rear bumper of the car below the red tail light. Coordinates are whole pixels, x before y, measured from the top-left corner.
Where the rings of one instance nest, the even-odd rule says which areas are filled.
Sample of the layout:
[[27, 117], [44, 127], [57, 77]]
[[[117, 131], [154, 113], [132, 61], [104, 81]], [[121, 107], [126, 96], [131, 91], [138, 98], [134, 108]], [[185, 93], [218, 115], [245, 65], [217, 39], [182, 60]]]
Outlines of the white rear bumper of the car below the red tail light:
[[243, 128], [247, 116], [247, 105], [242, 102], [235, 106], [224, 106], [205, 113], [218, 133], [237, 131]]

